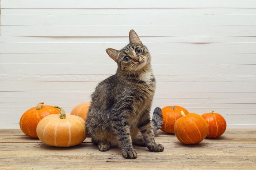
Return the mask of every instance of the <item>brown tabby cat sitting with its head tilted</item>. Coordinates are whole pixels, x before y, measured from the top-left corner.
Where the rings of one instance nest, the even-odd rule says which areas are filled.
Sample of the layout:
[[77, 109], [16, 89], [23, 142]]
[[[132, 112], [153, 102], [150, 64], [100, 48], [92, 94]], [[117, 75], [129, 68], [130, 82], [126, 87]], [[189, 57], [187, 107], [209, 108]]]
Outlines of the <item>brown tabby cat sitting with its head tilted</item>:
[[155, 93], [151, 56], [134, 30], [122, 50], [106, 49], [117, 63], [116, 74], [103, 80], [92, 94], [86, 129], [100, 151], [118, 143], [124, 158], [136, 159], [133, 145], [146, 146], [152, 152], [163, 151], [154, 136], [161, 128], [161, 108], [150, 109]]

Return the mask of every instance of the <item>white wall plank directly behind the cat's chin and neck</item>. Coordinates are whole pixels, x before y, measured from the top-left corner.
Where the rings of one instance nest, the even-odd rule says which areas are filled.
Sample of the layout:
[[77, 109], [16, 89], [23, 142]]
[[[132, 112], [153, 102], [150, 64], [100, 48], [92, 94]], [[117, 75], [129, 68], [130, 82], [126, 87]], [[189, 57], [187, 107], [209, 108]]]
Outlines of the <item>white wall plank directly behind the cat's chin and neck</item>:
[[[58, 69], [56, 69], [58, 68]], [[101, 69], [99, 69], [101, 68]], [[155, 75], [254, 75], [256, 64], [152, 64]], [[113, 75], [117, 64], [2, 64], [4, 74]], [[128, 75], [129, 76], [129, 75]]]

